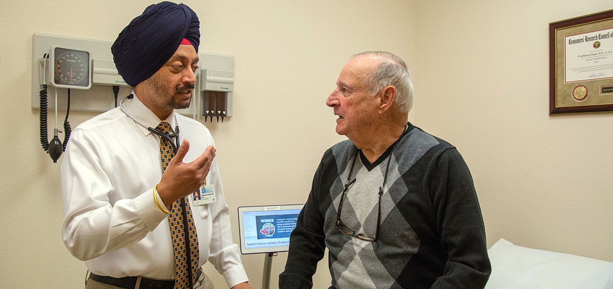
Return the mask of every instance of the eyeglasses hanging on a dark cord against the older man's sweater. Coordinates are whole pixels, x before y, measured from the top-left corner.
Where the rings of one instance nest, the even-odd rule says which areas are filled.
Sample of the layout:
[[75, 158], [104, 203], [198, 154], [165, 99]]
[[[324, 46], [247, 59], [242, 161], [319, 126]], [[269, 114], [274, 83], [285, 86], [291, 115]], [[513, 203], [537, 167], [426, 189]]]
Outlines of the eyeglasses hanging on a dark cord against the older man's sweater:
[[385, 181], [387, 179], [387, 171], [389, 170], [389, 162], [392, 159], [392, 152], [394, 152], [394, 149], [396, 148], [396, 144], [398, 144], [398, 141], [400, 140], [400, 138], [402, 138], [402, 136], [405, 134], [407, 128], [408, 126], [405, 126], [405, 130], [403, 130], [403, 132], [400, 134], [400, 137], [398, 137], [398, 140], [394, 141], [394, 143], [392, 144], [392, 151], [390, 152], [389, 157], [387, 159], [387, 167], [385, 169], [385, 175], [383, 177], [383, 184], [381, 185], [381, 187], [379, 187], [379, 200], [377, 201], [377, 206], [379, 208], [377, 212], [377, 227], [375, 229], [375, 236], [369, 237], [362, 233], [356, 233], [356, 231], [351, 230], [345, 225], [345, 223], [343, 223], [343, 221], [341, 221], [341, 210], [343, 209], [343, 199], [345, 199], [345, 195], [347, 193], [347, 190], [349, 190], [349, 186], [351, 186], [354, 182], [356, 182], [356, 178], [352, 179], [351, 181], [349, 181], [349, 179], [351, 178], [353, 166], [356, 165], [356, 159], [357, 159], [358, 152], [356, 152], [356, 155], [353, 157], [351, 168], [349, 168], [349, 175], [347, 176], [347, 183], [345, 184], [345, 189], [343, 189], [343, 193], [341, 193], [341, 200], [338, 202], [337, 228], [339, 231], [345, 233], [346, 235], [352, 236], [353, 238], [357, 238], [357, 239], [360, 239], [362, 241], [367, 241], [367, 242], [376, 242], [377, 238], [379, 238], [379, 228], [381, 227], [381, 196], [383, 195], [383, 187], [385, 187]]

